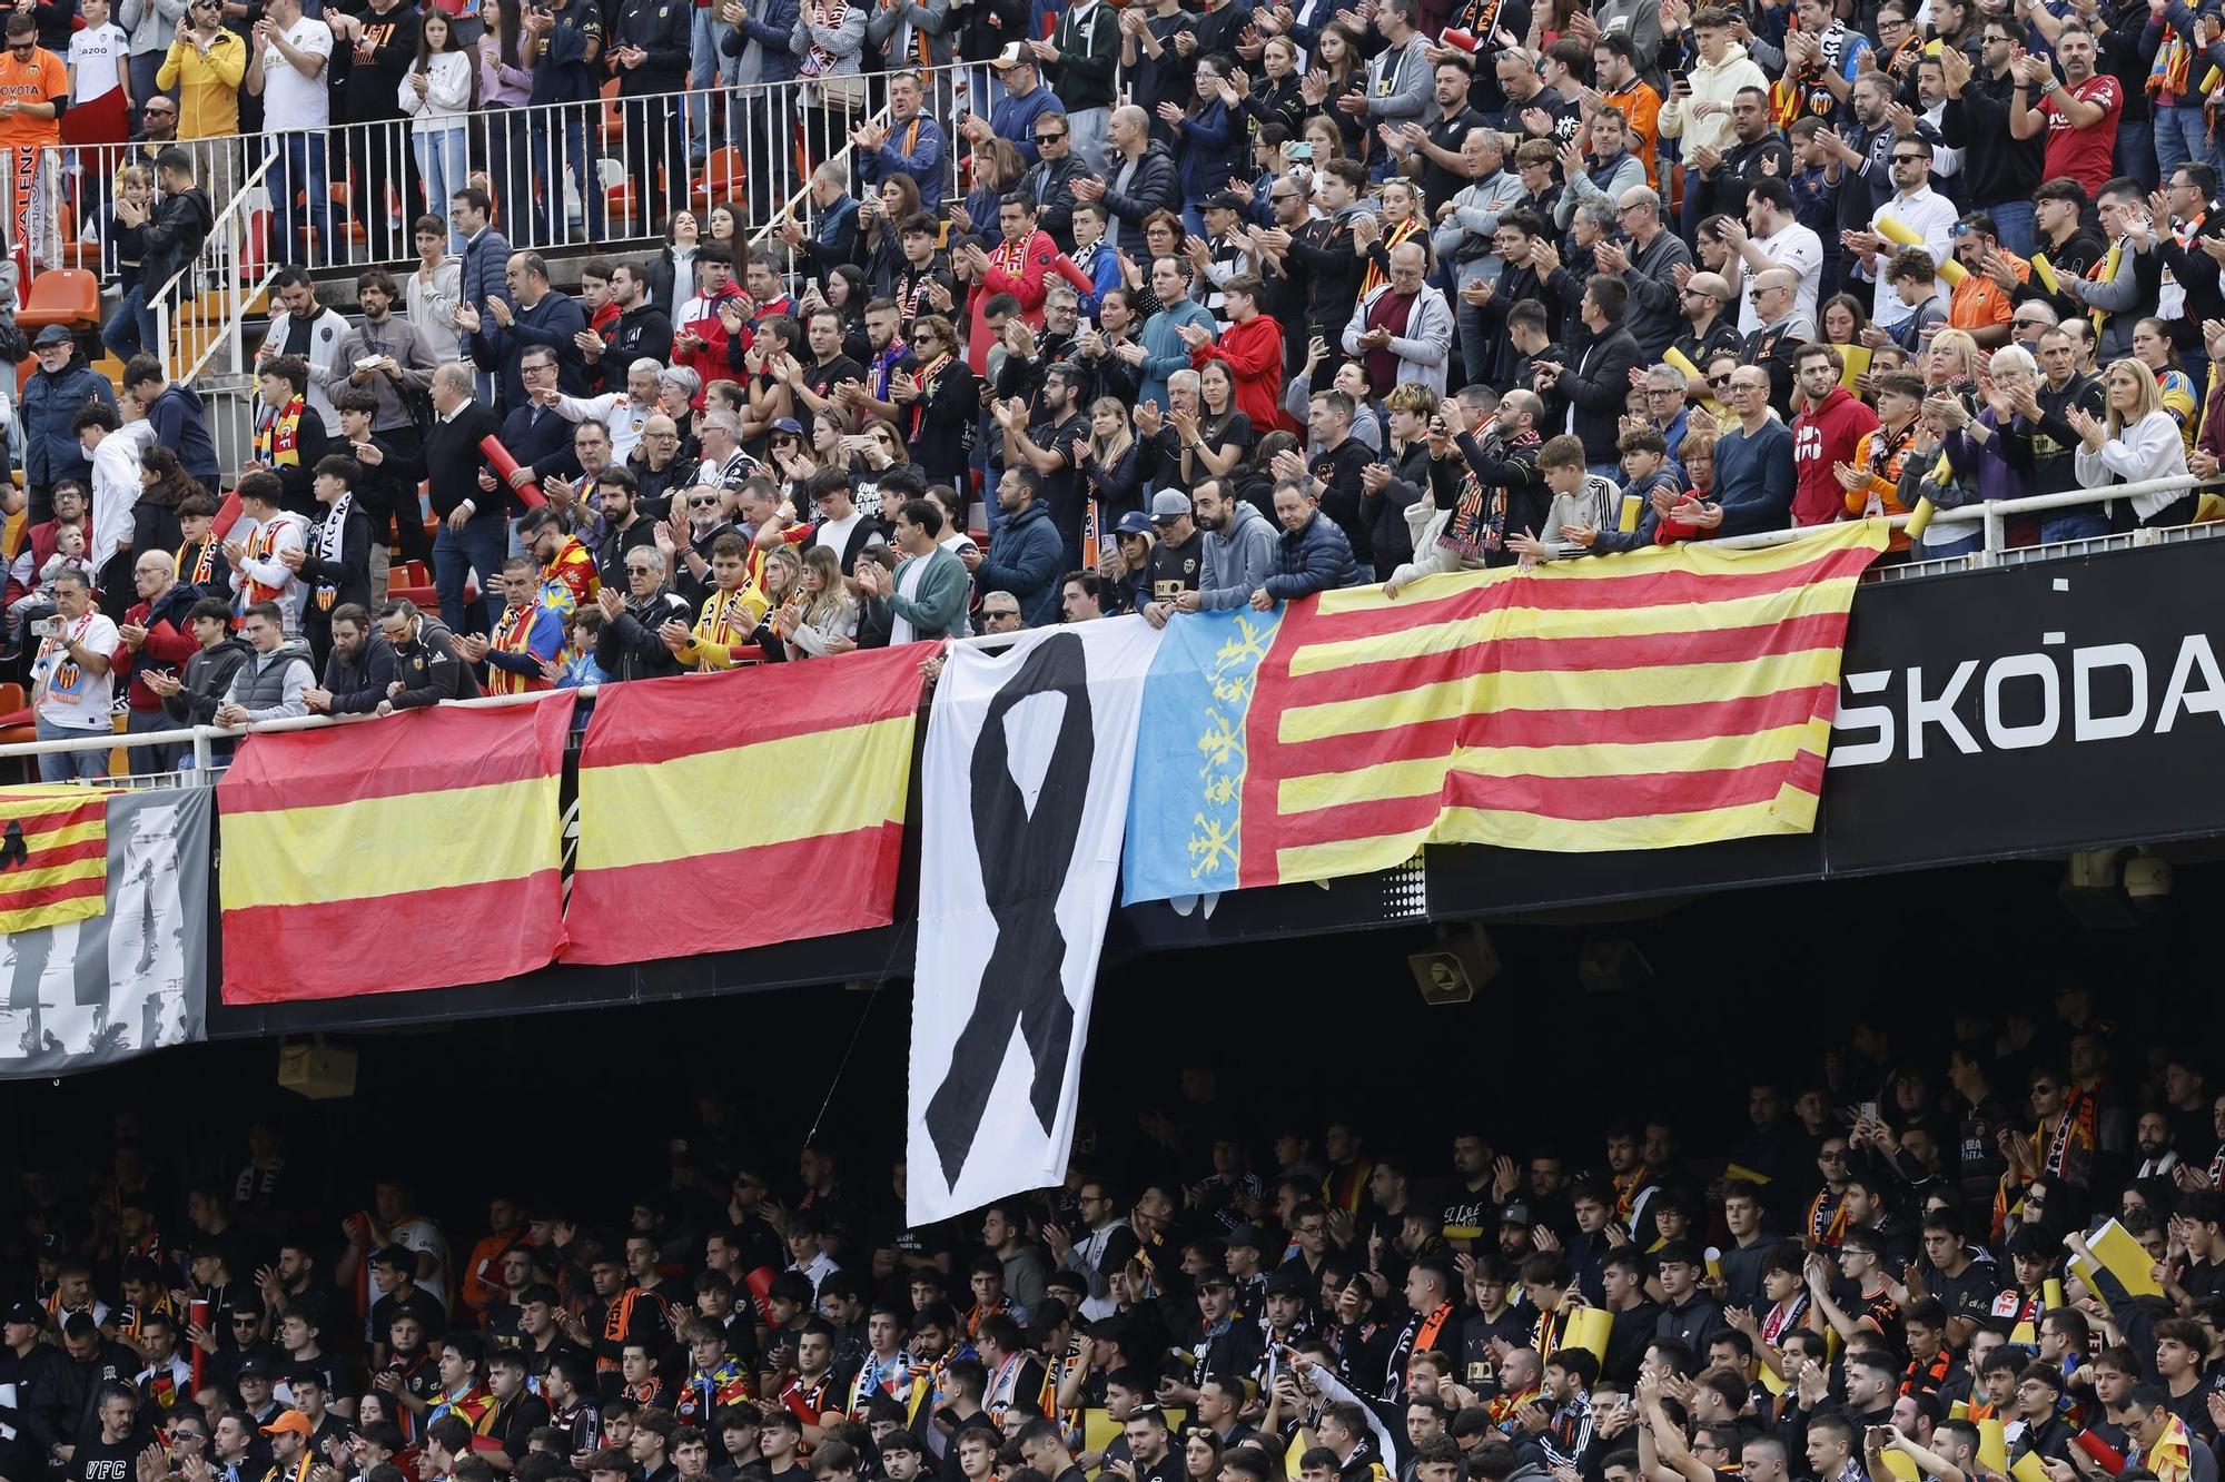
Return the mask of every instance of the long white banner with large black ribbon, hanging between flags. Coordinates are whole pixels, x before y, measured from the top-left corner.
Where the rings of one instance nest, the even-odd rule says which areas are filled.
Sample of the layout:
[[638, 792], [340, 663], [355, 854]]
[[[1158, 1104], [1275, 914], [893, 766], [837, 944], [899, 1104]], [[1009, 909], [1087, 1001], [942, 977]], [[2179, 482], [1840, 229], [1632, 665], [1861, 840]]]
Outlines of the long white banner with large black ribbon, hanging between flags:
[[906, 1219], [1066, 1177], [1159, 630], [952, 648], [921, 765]]

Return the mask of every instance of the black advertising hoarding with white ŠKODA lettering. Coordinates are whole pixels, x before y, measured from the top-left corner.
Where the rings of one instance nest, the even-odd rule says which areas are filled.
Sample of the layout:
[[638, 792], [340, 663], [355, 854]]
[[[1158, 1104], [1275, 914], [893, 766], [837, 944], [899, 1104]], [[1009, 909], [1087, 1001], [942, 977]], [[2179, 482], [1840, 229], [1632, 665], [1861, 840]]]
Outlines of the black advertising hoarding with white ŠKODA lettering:
[[2225, 834], [2221, 594], [2216, 539], [1865, 590], [1824, 870]]

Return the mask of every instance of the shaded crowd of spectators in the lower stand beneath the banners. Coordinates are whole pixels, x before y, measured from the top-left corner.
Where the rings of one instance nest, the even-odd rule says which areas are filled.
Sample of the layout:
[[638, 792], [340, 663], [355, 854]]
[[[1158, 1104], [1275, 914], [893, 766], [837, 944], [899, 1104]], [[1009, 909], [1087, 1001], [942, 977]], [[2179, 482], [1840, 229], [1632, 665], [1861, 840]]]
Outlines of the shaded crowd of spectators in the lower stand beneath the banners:
[[879, 1148], [812, 1139], [788, 1177], [712, 1088], [636, 1106], [656, 1168], [567, 1164], [558, 1193], [447, 1168], [467, 1228], [405, 1164], [305, 1157], [271, 1119], [220, 1177], [178, 1173], [125, 1110], [11, 1184], [0, 1471], [2214, 1478], [2225, 1095], [2085, 988], [1942, 1028], [1711, 1077], [1691, 1115], [1740, 1130], [1707, 1148], [1669, 1117], [1506, 1135], [1451, 1106], [1377, 1146], [1193, 1068], [1086, 1108], [1117, 1177], [932, 1228]]

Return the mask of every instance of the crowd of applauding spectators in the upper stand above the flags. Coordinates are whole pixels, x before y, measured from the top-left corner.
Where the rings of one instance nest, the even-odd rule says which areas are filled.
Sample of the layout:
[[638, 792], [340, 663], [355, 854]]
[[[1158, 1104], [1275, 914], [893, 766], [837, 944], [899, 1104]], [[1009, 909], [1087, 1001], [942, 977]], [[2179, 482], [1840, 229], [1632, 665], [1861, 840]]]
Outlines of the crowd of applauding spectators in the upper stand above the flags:
[[[1938, 559], [2027, 494], [2140, 485], [2011, 545], [2189, 523], [2149, 481], [2225, 445], [2214, 4], [363, 2], [9, 20], [0, 142], [93, 89], [138, 120], [71, 196], [120, 385], [67, 329], [27, 347], [42, 737], [1898, 512], [1887, 559]], [[610, 140], [525, 127], [610, 78], [643, 105]], [[363, 127], [418, 149], [327, 151]], [[696, 211], [721, 138], [765, 158]], [[225, 140], [271, 160], [271, 260], [343, 263], [323, 298], [276, 274], [240, 467], [151, 338]], [[690, 209], [543, 251], [610, 229], [543, 156], [605, 147], [636, 211]]]

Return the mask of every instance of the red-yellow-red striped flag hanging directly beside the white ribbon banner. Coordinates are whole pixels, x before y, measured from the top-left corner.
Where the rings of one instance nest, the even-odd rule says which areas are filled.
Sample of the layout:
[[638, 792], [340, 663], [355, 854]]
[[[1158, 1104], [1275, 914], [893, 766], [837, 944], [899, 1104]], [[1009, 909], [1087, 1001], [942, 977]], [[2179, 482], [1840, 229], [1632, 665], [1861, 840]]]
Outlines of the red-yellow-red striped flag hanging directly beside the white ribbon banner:
[[605, 685], [578, 754], [565, 961], [888, 926], [928, 652]]

